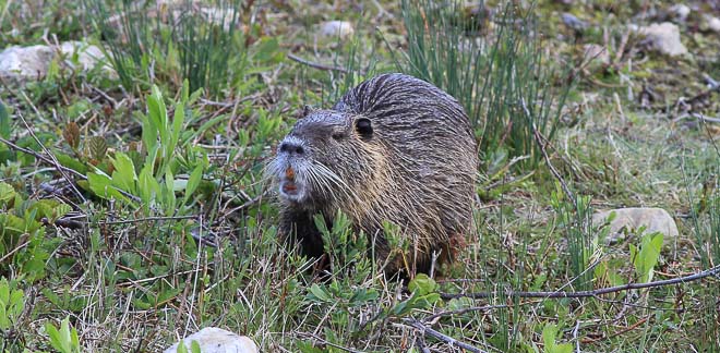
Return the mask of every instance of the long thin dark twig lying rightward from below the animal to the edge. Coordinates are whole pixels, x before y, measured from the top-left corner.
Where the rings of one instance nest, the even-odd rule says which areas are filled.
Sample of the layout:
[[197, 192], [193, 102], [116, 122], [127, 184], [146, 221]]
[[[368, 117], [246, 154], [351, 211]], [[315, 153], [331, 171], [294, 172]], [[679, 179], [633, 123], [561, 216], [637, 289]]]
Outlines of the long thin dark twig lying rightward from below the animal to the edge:
[[[704, 279], [706, 277], [717, 276], [719, 273], [720, 273], [720, 265], [718, 265], [716, 267], [712, 267], [710, 269], [707, 269], [705, 271], [694, 273], [694, 275], [673, 278], [673, 279], [669, 279], [669, 280], [647, 282], [647, 283], [627, 283], [627, 284], [623, 284], [623, 285], [601, 288], [601, 289], [592, 290], [592, 291], [577, 291], [577, 292], [508, 291], [508, 292], [505, 292], [504, 295], [505, 296], [514, 296], [514, 297], [544, 297], [544, 299], [551, 299], [551, 297], [589, 297], [589, 296], [598, 296], [598, 295], [604, 295], [604, 294], [610, 294], [610, 293], [636, 290], [636, 289], [664, 287], [664, 285], [672, 285], [672, 284], [677, 284], [677, 283], [687, 283], [687, 282], [693, 282], [693, 281]], [[490, 297], [493, 294], [495, 294], [495, 293], [492, 293], [492, 292], [461, 293], [461, 294], [440, 293], [440, 296], [444, 300], [457, 299], [457, 297], [482, 299], [482, 297]]]

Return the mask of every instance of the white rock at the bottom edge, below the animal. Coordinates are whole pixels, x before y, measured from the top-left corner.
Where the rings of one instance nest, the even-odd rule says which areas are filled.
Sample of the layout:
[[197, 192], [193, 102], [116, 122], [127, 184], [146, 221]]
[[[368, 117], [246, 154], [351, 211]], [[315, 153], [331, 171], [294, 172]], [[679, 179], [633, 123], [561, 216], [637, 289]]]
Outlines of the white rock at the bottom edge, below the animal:
[[[206, 327], [185, 337], [182, 342], [190, 352], [192, 341], [197, 341], [203, 353], [257, 353], [257, 345], [247, 336], [239, 336], [216, 327]], [[172, 344], [165, 353], [177, 353], [178, 344]]]

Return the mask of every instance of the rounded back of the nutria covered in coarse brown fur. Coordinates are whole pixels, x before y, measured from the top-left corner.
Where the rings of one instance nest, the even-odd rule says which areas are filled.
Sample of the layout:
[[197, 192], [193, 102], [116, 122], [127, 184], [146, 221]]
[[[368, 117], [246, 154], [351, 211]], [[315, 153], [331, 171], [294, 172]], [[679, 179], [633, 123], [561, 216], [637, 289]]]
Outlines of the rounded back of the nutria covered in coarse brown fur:
[[477, 143], [463, 107], [424, 81], [384, 74], [348, 92], [334, 109], [379, 125], [400, 196], [385, 197], [379, 207], [396, 212], [386, 215], [391, 221], [410, 223], [417, 235], [432, 238], [420, 240], [427, 243], [420, 244], [427, 245], [423, 251], [451, 255], [449, 242], [461, 242], [470, 231], [478, 166]]

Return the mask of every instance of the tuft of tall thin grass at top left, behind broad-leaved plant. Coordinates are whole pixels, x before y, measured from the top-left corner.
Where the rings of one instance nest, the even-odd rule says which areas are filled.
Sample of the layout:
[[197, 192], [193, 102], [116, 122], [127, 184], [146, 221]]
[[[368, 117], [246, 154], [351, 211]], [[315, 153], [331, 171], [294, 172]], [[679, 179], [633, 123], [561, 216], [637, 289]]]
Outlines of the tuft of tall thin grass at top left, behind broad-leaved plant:
[[[191, 90], [204, 88], [217, 97], [249, 72], [248, 38], [238, 28], [243, 15], [252, 16], [241, 1], [216, 0], [201, 8], [191, 1], [84, 1], [127, 90], [143, 92], [158, 78], [180, 86], [184, 78]], [[271, 59], [268, 49], [275, 50], [265, 46], [260, 54]]]

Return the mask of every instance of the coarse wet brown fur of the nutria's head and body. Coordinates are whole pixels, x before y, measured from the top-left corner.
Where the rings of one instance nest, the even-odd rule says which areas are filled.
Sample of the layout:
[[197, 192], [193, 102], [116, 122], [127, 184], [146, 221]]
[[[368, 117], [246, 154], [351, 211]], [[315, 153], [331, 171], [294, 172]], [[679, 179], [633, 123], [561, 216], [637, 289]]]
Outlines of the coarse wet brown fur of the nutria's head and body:
[[[457, 100], [404, 74], [383, 74], [332, 109], [305, 114], [280, 142], [269, 172], [278, 185], [280, 232], [312, 257], [324, 253], [313, 221], [341, 210], [369, 236], [385, 272], [428, 273], [433, 253], [452, 260], [471, 229], [477, 142]], [[391, 252], [383, 221], [410, 251]]]

